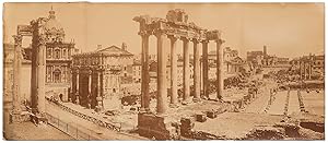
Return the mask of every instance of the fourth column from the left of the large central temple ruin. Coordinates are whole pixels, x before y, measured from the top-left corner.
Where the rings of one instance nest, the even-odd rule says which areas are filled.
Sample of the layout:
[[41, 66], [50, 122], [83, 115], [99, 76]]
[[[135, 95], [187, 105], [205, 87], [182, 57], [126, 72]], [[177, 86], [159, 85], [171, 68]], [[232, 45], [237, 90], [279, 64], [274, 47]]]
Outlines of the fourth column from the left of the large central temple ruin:
[[184, 41], [184, 100], [183, 104], [190, 102], [190, 68], [189, 68], [189, 38], [183, 37]]

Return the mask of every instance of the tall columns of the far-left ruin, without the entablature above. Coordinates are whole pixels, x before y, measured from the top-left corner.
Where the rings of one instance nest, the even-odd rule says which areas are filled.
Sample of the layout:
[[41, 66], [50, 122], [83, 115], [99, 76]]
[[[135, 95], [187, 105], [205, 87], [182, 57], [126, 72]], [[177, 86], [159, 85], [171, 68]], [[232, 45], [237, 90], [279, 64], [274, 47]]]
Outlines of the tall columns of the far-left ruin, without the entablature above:
[[[13, 61], [13, 111], [19, 112], [20, 107], [20, 72], [22, 64], [22, 38], [23, 35], [14, 35], [14, 61]], [[32, 80], [31, 96], [33, 112], [46, 111], [45, 98], [46, 83], [46, 38], [38, 36], [32, 47]]]

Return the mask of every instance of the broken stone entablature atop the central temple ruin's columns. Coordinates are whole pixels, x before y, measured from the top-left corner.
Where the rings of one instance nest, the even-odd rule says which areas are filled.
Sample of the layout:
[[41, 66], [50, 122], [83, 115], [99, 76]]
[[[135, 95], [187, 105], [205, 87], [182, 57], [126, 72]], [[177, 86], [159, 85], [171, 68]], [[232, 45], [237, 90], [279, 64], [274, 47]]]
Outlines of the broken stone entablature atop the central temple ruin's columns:
[[220, 31], [208, 31], [197, 26], [192, 22], [188, 23], [188, 15], [180, 9], [168, 11], [166, 19], [141, 15], [136, 16], [133, 21], [140, 23], [139, 35], [164, 33], [174, 37], [199, 41], [221, 39]]

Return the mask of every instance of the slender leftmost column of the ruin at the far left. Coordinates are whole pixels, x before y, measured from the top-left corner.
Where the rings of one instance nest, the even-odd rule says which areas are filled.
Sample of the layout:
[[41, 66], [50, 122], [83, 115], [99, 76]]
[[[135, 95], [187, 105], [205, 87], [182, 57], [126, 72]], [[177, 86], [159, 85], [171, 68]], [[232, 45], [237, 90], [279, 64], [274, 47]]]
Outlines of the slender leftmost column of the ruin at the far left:
[[21, 58], [22, 58], [22, 36], [15, 35], [13, 36], [15, 44], [14, 44], [14, 59], [13, 59], [13, 96], [12, 96], [12, 108], [13, 114], [21, 112], [21, 97], [20, 97], [20, 78], [21, 78]]

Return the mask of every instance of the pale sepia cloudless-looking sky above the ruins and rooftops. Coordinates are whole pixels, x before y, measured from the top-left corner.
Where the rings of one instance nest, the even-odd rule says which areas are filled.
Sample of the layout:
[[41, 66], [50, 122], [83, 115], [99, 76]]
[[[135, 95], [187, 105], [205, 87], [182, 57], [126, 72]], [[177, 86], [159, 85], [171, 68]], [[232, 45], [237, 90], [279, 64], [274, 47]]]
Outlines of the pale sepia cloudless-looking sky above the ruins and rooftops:
[[[324, 4], [108, 4], [108, 3], [10, 3], [4, 7], [4, 41], [13, 41], [17, 24], [48, 16], [51, 5], [56, 19], [66, 31], [66, 40], [74, 39], [82, 51], [91, 51], [96, 45], [128, 45], [132, 53], [140, 53], [138, 15], [165, 17], [168, 10], [185, 9], [189, 22], [208, 29], [220, 29], [224, 47], [237, 49], [242, 57], [248, 50], [262, 50], [267, 45], [270, 55], [297, 57], [324, 53]], [[24, 46], [28, 40], [25, 39]], [[150, 39], [150, 52], [156, 52], [155, 37]], [[168, 46], [168, 45], [167, 45]], [[181, 41], [177, 44], [183, 51]], [[215, 45], [210, 44], [210, 50]]]

